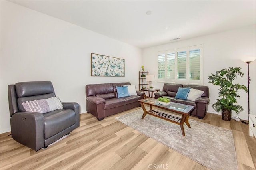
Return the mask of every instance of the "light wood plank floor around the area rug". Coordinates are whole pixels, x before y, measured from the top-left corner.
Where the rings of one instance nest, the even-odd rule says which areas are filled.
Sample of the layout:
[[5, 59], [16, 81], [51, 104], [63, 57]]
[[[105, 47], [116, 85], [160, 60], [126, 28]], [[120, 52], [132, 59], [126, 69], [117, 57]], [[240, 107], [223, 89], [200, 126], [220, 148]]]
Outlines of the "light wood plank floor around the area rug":
[[[80, 127], [67, 138], [38, 152], [7, 136], [10, 132], [1, 134], [0, 169], [208, 169], [115, 119], [140, 108], [106, 117], [102, 121], [91, 114], [81, 114]], [[238, 169], [255, 170], [256, 139], [249, 136], [248, 125], [233, 119], [230, 122], [223, 121], [220, 115], [211, 113], [207, 113], [203, 120], [194, 116], [190, 119], [231, 129]]]

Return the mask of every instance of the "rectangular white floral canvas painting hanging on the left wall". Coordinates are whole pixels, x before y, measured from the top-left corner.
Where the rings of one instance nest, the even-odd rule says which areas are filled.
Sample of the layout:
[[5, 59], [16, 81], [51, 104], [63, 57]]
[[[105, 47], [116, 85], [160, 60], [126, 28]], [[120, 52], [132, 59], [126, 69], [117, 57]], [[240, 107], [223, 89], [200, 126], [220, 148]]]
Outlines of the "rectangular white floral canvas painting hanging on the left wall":
[[124, 77], [124, 59], [91, 53], [91, 76]]

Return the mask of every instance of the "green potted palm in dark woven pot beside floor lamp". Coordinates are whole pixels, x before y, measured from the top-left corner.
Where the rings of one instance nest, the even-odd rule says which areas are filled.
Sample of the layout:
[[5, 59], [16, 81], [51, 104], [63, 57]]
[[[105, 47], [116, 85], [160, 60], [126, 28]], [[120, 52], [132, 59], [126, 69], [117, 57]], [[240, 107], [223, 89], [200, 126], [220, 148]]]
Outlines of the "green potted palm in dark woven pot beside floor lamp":
[[244, 75], [240, 70], [240, 67], [230, 67], [229, 69], [216, 71], [215, 74], [208, 76], [208, 79], [210, 80], [209, 83], [220, 86], [218, 93], [220, 99], [217, 99], [212, 105], [212, 108], [214, 108], [216, 112], [221, 111], [222, 119], [225, 121], [230, 121], [232, 110], [235, 111], [236, 114], [244, 110], [242, 106], [234, 105], [237, 103], [236, 98], [240, 99], [240, 96], [237, 94], [238, 90], [244, 90], [246, 93], [248, 92], [246, 86], [233, 83], [237, 75], [240, 77]]

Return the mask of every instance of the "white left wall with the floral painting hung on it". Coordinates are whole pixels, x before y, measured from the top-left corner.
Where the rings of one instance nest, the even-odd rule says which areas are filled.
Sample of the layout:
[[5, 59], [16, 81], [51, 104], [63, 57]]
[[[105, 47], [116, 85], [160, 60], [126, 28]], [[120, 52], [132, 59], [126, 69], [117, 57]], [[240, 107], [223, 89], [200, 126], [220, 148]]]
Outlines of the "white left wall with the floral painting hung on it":
[[[91, 77], [90, 53], [125, 59], [125, 77]], [[62, 101], [86, 112], [85, 85], [131, 82], [138, 86], [142, 50], [74, 24], [1, 1], [0, 133], [10, 131], [7, 86], [52, 81]]]

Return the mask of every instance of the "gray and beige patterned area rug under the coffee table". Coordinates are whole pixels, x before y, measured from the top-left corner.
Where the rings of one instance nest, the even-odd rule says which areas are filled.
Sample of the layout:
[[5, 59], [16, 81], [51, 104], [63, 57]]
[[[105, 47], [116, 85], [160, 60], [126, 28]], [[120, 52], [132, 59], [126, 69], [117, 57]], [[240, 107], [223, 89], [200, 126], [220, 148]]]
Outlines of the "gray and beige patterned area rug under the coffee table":
[[238, 169], [232, 130], [189, 119], [182, 136], [180, 125], [142, 114], [138, 109], [116, 119], [212, 170]]

